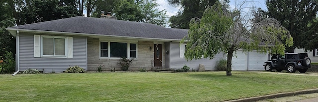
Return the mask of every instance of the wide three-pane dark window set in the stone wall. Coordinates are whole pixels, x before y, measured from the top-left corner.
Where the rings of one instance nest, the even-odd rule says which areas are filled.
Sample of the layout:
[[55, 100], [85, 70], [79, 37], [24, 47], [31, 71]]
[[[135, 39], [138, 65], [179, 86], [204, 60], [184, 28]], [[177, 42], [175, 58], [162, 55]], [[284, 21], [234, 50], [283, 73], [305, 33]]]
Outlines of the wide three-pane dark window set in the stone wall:
[[137, 58], [137, 43], [100, 42], [101, 58]]

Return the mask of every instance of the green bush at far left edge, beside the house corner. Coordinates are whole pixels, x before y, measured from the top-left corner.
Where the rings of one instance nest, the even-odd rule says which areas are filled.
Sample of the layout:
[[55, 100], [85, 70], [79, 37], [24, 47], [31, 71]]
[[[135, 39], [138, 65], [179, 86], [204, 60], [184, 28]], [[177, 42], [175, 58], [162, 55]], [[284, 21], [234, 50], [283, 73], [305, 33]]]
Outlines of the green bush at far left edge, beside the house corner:
[[0, 58], [0, 74], [13, 73], [15, 71], [15, 60], [12, 52], [5, 51], [3, 58]]

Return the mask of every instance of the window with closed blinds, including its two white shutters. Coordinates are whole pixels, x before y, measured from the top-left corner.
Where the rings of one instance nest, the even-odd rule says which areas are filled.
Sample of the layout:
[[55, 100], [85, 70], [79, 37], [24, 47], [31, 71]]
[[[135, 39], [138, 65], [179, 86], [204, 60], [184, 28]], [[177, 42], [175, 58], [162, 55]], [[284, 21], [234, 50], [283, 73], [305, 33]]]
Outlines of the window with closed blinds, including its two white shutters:
[[73, 37], [34, 35], [34, 57], [73, 58]]

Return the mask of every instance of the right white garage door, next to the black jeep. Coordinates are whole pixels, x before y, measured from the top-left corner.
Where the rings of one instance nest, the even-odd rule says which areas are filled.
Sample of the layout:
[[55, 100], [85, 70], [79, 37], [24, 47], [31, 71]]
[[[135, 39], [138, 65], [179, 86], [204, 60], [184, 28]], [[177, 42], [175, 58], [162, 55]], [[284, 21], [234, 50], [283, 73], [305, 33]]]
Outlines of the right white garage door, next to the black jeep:
[[252, 51], [248, 53], [248, 70], [264, 70], [264, 62], [268, 59], [268, 53]]

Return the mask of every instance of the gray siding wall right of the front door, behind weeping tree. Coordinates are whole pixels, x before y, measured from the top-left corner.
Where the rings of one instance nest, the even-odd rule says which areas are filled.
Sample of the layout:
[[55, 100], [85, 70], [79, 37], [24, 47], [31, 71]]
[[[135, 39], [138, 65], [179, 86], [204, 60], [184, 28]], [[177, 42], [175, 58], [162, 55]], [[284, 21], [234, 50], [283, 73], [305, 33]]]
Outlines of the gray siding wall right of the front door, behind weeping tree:
[[217, 54], [213, 59], [193, 59], [192, 61], [187, 61], [185, 58], [180, 58], [180, 45], [179, 42], [170, 42], [170, 68], [179, 69], [182, 68], [183, 65], [187, 65], [190, 67], [190, 70], [198, 70], [199, 64], [203, 64], [205, 66], [205, 70], [216, 70], [217, 62], [222, 58], [223, 53]]

